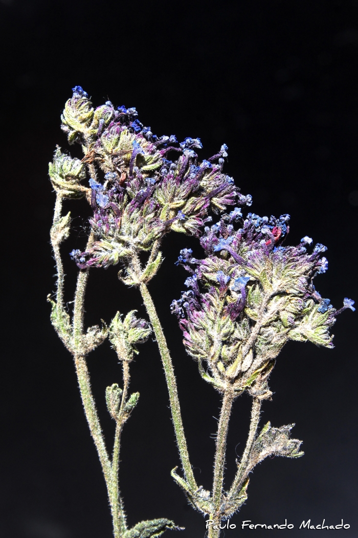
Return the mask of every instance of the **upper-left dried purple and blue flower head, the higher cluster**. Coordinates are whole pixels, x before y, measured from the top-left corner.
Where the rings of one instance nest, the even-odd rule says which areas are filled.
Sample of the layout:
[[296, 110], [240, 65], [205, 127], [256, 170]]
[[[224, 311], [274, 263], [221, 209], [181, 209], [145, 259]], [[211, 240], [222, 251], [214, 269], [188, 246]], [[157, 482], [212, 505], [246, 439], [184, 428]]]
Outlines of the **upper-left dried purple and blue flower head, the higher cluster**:
[[[88, 251], [72, 252], [79, 267], [114, 265], [133, 252], [150, 250], [170, 230], [198, 236], [211, 220], [210, 208], [220, 213], [235, 203], [251, 205], [251, 196], [239, 194], [223, 173], [225, 144], [199, 161], [199, 138], [179, 144], [173, 135], [157, 137], [138, 121], [135, 108], [115, 109], [107, 101], [94, 109], [81, 87], [73, 91], [62, 129], [70, 144], [83, 145], [83, 162], [93, 171], [90, 222], [96, 237]], [[94, 177], [95, 165], [101, 181]]]

